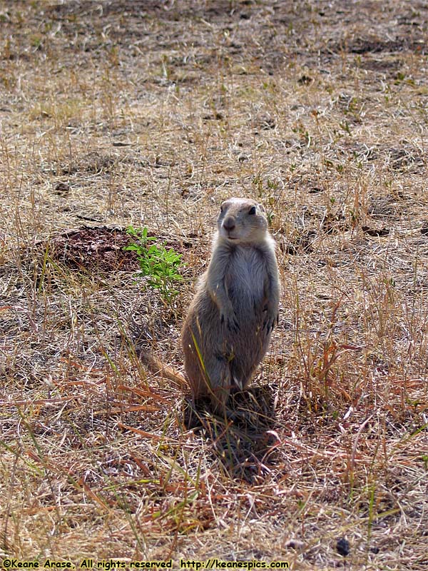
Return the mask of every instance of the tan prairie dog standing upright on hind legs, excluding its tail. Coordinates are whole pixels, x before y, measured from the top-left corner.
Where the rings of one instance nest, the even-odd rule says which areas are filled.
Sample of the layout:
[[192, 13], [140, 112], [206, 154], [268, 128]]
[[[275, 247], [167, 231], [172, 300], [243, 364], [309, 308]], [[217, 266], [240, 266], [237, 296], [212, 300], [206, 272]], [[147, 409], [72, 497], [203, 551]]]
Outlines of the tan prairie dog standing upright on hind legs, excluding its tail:
[[185, 373], [196, 397], [215, 408], [248, 386], [277, 323], [275, 241], [263, 206], [229, 198], [220, 207], [208, 270], [181, 331]]

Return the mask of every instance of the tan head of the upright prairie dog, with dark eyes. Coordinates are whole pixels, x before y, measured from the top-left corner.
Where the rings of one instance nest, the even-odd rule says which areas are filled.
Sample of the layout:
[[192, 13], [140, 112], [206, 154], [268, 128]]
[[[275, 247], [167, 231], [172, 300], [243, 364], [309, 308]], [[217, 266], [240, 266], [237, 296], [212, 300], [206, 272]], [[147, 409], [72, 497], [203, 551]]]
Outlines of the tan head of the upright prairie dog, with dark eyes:
[[257, 243], [267, 232], [265, 209], [248, 198], [228, 198], [220, 206], [218, 236], [228, 243]]

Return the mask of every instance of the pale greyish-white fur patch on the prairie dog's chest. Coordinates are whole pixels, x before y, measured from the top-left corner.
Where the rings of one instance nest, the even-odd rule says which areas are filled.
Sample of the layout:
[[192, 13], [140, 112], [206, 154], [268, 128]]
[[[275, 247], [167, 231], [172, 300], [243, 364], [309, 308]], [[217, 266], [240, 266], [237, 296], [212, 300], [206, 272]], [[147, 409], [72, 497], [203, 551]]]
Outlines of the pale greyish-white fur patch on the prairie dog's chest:
[[225, 286], [233, 297], [263, 298], [267, 267], [265, 255], [253, 246], [235, 246], [225, 271]]

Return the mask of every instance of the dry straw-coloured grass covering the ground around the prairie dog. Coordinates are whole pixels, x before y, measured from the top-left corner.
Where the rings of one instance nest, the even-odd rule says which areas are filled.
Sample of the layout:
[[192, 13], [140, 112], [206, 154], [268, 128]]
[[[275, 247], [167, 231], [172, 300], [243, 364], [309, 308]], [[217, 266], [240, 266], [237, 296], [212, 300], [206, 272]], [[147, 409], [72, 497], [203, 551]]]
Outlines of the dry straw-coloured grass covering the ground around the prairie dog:
[[[427, 568], [427, 19], [0, 5], [0, 557]], [[282, 279], [233, 423], [190, 419], [134, 349], [182, 368], [228, 196], [269, 208]], [[173, 311], [135, 283], [128, 223], [184, 254]]]

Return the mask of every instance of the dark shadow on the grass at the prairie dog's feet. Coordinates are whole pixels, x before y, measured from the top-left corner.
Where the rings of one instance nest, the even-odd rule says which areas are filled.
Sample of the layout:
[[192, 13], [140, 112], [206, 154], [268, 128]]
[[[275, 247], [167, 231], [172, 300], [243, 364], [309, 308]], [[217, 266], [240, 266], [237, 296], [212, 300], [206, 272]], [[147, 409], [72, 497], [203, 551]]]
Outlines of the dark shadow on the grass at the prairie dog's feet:
[[258, 482], [275, 462], [276, 392], [265, 385], [233, 393], [224, 413], [213, 413], [209, 398], [185, 400], [185, 428], [205, 436], [229, 477]]

